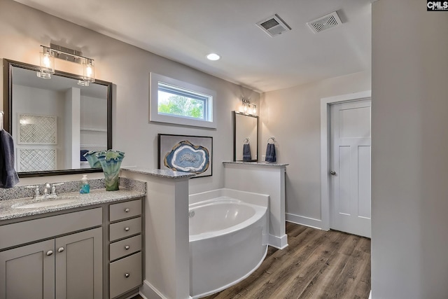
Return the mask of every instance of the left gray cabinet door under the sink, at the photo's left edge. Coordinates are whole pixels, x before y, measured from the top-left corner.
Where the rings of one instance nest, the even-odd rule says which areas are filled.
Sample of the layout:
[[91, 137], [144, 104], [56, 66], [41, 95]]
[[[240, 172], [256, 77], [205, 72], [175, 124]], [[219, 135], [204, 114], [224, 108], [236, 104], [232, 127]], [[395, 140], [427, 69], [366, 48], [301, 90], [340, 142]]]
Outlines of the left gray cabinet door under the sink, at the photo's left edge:
[[0, 252], [1, 299], [55, 299], [55, 240]]

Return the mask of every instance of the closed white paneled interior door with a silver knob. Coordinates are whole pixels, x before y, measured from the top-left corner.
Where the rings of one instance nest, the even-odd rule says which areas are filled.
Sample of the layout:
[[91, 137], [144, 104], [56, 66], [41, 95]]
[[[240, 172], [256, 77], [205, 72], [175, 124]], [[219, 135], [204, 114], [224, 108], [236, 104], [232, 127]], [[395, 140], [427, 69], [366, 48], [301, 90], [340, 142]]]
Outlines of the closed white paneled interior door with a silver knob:
[[370, 223], [370, 99], [330, 106], [330, 228], [364, 237]]

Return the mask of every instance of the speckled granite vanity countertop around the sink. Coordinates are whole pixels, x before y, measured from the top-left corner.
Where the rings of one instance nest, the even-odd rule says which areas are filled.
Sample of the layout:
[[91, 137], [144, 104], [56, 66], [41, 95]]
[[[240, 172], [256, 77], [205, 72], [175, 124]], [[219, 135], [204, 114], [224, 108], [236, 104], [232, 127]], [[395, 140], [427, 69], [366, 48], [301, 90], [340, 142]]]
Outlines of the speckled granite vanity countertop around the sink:
[[[64, 211], [78, 207], [88, 207], [94, 204], [104, 204], [116, 202], [146, 195], [145, 190], [130, 190], [120, 186], [120, 190], [106, 191], [105, 189], [90, 190], [90, 193], [80, 194], [79, 192], [61, 193], [56, 198], [33, 200], [31, 197], [14, 200], [0, 200], [0, 221], [45, 214], [54, 211]], [[70, 202], [51, 205], [47, 207], [20, 208], [24, 204], [44, 202], [51, 200], [70, 200]]]

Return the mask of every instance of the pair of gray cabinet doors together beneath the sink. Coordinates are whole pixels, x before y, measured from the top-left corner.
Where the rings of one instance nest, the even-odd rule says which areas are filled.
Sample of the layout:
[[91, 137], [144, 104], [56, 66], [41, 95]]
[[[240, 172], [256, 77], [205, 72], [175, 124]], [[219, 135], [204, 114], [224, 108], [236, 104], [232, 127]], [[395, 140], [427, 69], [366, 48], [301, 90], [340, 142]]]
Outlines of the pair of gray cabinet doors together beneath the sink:
[[102, 228], [0, 252], [0, 298], [101, 299]]

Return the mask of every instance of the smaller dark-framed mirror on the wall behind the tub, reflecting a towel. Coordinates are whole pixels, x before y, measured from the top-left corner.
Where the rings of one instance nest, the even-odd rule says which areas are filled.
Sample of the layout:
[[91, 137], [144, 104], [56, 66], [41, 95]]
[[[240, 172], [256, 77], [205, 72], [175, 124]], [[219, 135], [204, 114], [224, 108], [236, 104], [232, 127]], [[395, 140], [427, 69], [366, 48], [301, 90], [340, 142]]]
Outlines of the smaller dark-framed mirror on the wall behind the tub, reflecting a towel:
[[258, 161], [258, 116], [233, 111], [233, 160]]

